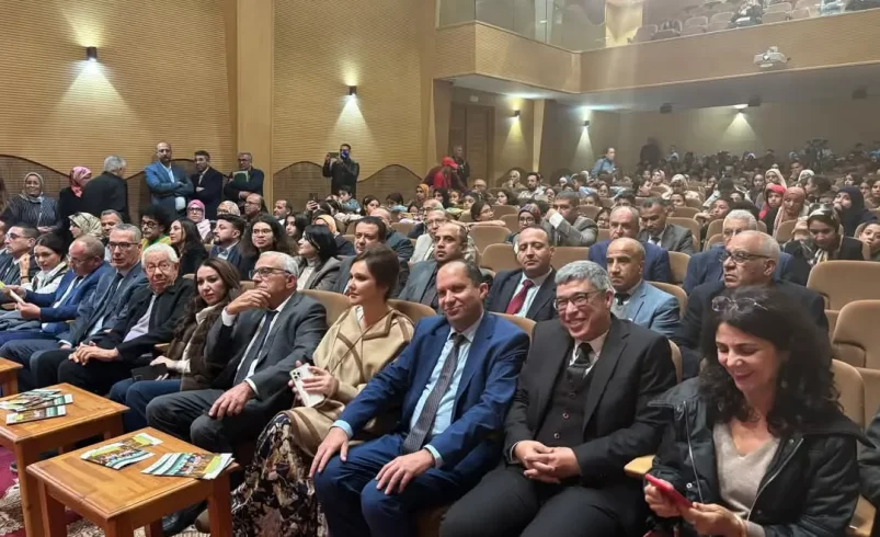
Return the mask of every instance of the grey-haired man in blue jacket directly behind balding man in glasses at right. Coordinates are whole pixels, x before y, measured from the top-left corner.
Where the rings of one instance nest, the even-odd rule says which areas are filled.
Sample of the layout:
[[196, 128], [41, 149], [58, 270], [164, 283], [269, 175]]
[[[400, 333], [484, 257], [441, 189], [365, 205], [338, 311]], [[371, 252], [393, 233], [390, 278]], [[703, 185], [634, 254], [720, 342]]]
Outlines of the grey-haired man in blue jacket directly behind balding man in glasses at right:
[[[722, 227], [722, 236], [724, 242], [716, 244], [712, 248], [690, 256], [687, 263], [687, 273], [685, 274], [685, 282], [682, 287], [688, 295], [694, 288], [700, 284], [708, 282], [721, 282], [724, 276], [724, 268], [721, 262], [721, 254], [730, 240], [742, 231], [756, 231], [757, 220], [754, 215], [747, 210], [736, 209], [731, 210], [724, 218]], [[791, 282], [793, 284], [807, 285], [797, 276], [797, 271], [793, 270], [791, 255], [780, 252], [779, 263], [776, 265], [776, 271], [773, 277], [780, 282]]]

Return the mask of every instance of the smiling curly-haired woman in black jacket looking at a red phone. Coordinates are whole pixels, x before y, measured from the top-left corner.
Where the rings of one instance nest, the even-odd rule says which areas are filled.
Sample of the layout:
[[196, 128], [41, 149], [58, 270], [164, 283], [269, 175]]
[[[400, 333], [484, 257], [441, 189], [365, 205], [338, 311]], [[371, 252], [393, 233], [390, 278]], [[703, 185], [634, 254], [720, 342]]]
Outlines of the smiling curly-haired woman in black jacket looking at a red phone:
[[655, 530], [681, 537], [845, 535], [858, 500], [856, 444], [839, 409], [827, 336], [772, 288], [716, 298], [702, 334], [706, 365], [651, 404], [670, 424], [650, 473]]

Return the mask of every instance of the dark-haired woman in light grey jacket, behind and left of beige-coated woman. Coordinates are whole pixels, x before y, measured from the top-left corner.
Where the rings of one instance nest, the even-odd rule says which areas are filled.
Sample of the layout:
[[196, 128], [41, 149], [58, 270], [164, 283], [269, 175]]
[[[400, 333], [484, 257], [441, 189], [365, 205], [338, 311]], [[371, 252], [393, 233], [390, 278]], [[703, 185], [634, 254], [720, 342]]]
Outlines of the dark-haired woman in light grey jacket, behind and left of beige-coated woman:
[[297, 290], [333, 290], [339, 278], [336, 242], [327, 226], [309, 226], [299, 239], [296, 258]]

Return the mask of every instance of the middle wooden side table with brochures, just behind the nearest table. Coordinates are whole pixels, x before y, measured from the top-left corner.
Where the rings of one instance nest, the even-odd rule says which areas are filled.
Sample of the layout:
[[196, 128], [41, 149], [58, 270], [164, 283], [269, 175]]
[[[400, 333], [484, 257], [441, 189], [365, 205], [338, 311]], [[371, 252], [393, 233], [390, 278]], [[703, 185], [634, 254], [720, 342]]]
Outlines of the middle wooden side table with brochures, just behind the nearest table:
[[[123, 432], [122, 414], [128, 407], [89, 393], [68, 384], [50, 386], [73, 396], [67, 405], [67, 415], [18, 425], [7, 425], [7, 414], [0, 409], [0, 445], [15, 454], [19, 466], [19, 484], [22, 498], [24, 529], [28, 537], [43, 537], [43, 518], [39, 515], [39, 491], [27, 467], [39, 460], [39, 454], [72, 446], [77, 442], [103, 435], [112, 438]], [[0, 399], [14, 399], [9, 396]]]

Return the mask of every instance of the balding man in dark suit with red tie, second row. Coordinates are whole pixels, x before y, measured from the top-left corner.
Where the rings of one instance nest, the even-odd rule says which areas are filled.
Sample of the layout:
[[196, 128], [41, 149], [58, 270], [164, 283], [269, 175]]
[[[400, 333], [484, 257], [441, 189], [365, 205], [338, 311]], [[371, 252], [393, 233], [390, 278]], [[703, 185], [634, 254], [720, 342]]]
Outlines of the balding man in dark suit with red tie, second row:
[[553, 247], [547, 231], [538, 226], [525, 228], [519, 231], [516, 248], [516, 261], [522, 268], [495, 275], [485, 309], [536, 322], [555, 318], [556, 272], [550, 266]]

